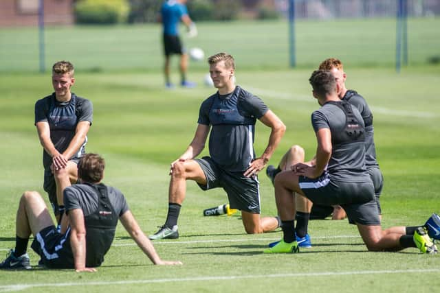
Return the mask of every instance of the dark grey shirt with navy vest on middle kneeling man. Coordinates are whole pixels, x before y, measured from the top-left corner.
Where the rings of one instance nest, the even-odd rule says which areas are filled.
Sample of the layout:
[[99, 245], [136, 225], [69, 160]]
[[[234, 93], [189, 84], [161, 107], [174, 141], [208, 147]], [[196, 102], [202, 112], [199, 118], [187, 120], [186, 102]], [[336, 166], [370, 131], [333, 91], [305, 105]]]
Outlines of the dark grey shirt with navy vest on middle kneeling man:
[[212, 126], [209, 138], [211, 159], [230, 172], [243, 172], [255, 158], [256, 119], [269, 110], [252, 93], [236, 86], [228, 95], [215, 93], [203, 101], [199, 124]]

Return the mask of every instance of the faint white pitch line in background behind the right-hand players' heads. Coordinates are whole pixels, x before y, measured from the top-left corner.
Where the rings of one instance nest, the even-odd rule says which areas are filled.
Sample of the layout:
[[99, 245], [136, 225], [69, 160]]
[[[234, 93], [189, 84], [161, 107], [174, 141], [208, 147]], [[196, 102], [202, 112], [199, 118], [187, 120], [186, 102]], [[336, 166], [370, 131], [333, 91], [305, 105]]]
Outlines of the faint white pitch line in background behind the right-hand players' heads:
[[[289, 100], [296, 100], [301, 102], [311, 102], [316, 103], [316, 99], [310, 96], [306, 95], [292, 95], [289, 93], [283, 93], [278, 91], [270, 91], [265, 89], [259, 89], [254, 87], [248, 87], [249, 91], [252, 91], [252, 93], [255, 93], [256, 95], [264, 95], [266, 97], [271, 97], [272, 99], [289, 99]], [[371, 110], [373, 110], [373, 113], [381, 113], [384, 115], [394, 115], [394, 116], [403, 116], [403, 117], [416, 117], [416, 118], [435, 118], [437, 115], [435, 113], [431, 112], [424, 112], [424, 111], [414, 111], [414, 110], [398, 110], [398, 109], [389, 109], [384, 107], [373, 107], [371, 106]]]

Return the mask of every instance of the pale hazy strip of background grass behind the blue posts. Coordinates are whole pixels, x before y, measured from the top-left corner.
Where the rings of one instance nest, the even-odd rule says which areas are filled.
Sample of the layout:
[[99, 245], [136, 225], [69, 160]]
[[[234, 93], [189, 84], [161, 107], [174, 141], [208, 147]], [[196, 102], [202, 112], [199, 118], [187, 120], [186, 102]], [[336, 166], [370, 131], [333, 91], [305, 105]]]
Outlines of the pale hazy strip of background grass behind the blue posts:
[[[185, 45], [200, 47], [206, 56], [228, 51], [244, 67], [289, 67], [286, 21], [234, 21], [198, 23], [199, 36]], [[408, 19], [408, 62], [426, 64], [439, 58], [439, 19]], [[181, 31], [184, 32], [183, 27]], [[316, 60], [338, 56], [349, 66], [394, 67], [396, 21], [391, 19], [340, 19], [296, 22], [298, 67], [314, 67]], [[162, 69], [161, 29], [157, 24], [129, 26], [45, 27], [45, 67], [70, 60], [90, 71]], [[37, 27], [0, 30], [0, 71], [38, 71]], [[205, 69], [203, 62], [192, 68]]]

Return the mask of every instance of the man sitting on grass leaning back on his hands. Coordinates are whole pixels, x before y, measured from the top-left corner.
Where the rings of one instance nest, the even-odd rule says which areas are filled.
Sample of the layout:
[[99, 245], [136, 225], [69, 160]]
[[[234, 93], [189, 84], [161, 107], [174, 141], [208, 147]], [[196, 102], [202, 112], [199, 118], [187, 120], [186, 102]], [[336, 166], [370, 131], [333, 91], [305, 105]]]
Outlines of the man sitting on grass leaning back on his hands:
[[180, 261], [163, 261], [157, 255], [129, 210], [124, 195], [101, 183], [104, 167], [104, 159], [98, 154], [85, 154], [80, 159], [78, 177], [82, 184], [69, 186], [63, 191], [69, 222], [68, 227], [62, 227], [62, 231], [67, 230], [65, 234], [56, 230], [41, 195], [36, 191], [25, 191], [17, 211], [15, 249], [10, 250], [0, 268], [31, 268], [26, 250], [32, 233], [34, 242], [31, 247], [47, 268], [96, 272], [94, 267], [101, 265], [113, 242], [118, 219], [154, 264], [181, 264]]

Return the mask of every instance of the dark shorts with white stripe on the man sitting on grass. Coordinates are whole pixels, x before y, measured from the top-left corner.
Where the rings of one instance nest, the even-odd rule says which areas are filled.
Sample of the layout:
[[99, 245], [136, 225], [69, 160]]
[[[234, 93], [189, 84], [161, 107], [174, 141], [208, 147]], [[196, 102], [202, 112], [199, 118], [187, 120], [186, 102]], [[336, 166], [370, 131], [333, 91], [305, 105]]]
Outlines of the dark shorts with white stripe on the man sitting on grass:
[[74, 268], [69, 232], [61, 234], [55, 226], [48, 226], [35, 235], [31, 247], [47, 268]]

